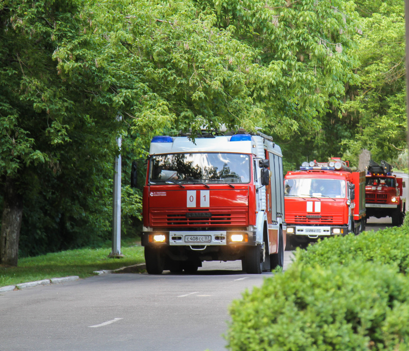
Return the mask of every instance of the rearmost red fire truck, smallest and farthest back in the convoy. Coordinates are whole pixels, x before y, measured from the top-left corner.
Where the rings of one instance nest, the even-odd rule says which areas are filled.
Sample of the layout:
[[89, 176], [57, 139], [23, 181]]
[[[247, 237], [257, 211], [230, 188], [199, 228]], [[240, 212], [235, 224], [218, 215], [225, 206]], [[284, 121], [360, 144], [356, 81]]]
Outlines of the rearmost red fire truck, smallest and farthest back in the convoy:
[[402, 197], [405, 183], [392, 174], [392, 166], [381, 161], [381, 165], [369, 161], [366, 177], [367, 218], [391, 217], [392, 225], [400, 225], [406, 211], [406, 199]]

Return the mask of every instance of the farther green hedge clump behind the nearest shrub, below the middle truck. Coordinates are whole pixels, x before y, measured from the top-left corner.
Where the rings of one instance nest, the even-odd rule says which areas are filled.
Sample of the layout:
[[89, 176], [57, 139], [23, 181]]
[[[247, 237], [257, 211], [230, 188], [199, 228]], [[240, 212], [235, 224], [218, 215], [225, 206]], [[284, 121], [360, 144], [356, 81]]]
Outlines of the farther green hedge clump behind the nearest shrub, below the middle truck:
[[397, 265], [402, 273], [409, 272], [409, 226], [387, 228], [324, 239], [297, 250], [296, 260], [310, 265], [349, 265], [357, 260]]

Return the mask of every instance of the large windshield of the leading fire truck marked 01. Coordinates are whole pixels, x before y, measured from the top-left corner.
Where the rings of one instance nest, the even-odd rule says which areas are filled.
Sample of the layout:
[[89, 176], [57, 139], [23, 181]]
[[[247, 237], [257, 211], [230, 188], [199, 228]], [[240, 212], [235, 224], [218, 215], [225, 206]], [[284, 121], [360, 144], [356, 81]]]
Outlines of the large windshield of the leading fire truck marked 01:
[[195, 153], [152, 156], [149, 182], [248, 183], [250, 158], [243, 154]]

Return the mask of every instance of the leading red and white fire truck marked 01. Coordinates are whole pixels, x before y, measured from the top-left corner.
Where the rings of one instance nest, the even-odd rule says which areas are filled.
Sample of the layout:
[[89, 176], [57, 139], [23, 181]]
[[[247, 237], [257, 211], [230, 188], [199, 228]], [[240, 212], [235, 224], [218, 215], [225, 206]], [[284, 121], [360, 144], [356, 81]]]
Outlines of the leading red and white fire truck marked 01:
[[[134, 162], [131, 186], [136, 174]], [[151, 140], [141, 240], [148, 273], [194, 273], [203, 261], [241, 260], [247, 273], [283, 266], [283, 218], [282, 154], [271, 137]]]

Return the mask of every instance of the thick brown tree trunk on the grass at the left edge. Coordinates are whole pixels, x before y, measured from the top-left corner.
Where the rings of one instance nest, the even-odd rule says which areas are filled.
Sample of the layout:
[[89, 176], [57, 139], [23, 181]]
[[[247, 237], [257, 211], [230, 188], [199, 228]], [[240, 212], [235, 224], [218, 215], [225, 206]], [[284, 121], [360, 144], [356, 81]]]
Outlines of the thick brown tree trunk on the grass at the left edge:
[[0, 232], [0, 264], [17, 266], [18, 239], [22, 220], [22, 195], [14, 179], [7, 178], [4, 187], [2, 230]]

